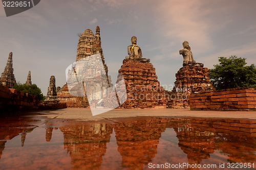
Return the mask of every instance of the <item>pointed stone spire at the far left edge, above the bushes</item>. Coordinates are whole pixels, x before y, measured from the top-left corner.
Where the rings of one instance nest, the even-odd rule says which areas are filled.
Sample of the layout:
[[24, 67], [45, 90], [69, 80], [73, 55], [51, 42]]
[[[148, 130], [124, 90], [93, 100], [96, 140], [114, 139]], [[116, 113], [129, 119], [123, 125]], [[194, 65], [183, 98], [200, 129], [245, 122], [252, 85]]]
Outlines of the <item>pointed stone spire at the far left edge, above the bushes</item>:
[[0, 84], [3, 84], [9, 88], [12, 88], [12, 86], [16, 84], [12, 68], [12, 52], [9, 54], [5, 70], [1, 75]]

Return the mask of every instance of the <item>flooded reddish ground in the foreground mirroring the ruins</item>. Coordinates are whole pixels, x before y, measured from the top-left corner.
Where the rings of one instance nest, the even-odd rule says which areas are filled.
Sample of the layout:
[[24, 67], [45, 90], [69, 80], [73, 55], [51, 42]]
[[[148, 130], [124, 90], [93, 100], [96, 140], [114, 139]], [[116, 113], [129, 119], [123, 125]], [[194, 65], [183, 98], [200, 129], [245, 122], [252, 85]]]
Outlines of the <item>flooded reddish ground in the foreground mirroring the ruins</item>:
[[0, 118], [0, 169], [256, 169], [256, 120]]

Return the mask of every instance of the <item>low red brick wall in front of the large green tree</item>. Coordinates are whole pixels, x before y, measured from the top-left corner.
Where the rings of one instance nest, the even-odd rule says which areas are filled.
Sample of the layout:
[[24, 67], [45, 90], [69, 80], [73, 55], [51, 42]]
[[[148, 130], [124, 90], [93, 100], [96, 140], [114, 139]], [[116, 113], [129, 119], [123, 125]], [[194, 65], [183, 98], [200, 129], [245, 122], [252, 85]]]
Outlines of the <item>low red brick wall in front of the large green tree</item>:
[[233, 88], [191, 94], [189, 98], [190, 110], [256, 111], [255, 88]]

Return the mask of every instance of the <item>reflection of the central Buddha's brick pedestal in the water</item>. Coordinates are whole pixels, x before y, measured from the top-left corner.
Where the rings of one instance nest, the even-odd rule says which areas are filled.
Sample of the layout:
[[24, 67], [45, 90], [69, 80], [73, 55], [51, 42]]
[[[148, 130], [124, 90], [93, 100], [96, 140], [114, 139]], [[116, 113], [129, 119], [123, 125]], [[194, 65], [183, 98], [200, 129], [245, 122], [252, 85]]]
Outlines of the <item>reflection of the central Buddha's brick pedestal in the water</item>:
[[157, 145], [165, 130], [166, 121], [157, 118], [150, 121], [140, 120], [136, 117], [136, 122], [118, 122], [114, 126], [122, 166], [127, 169], [143, 169], [157, 153]]

